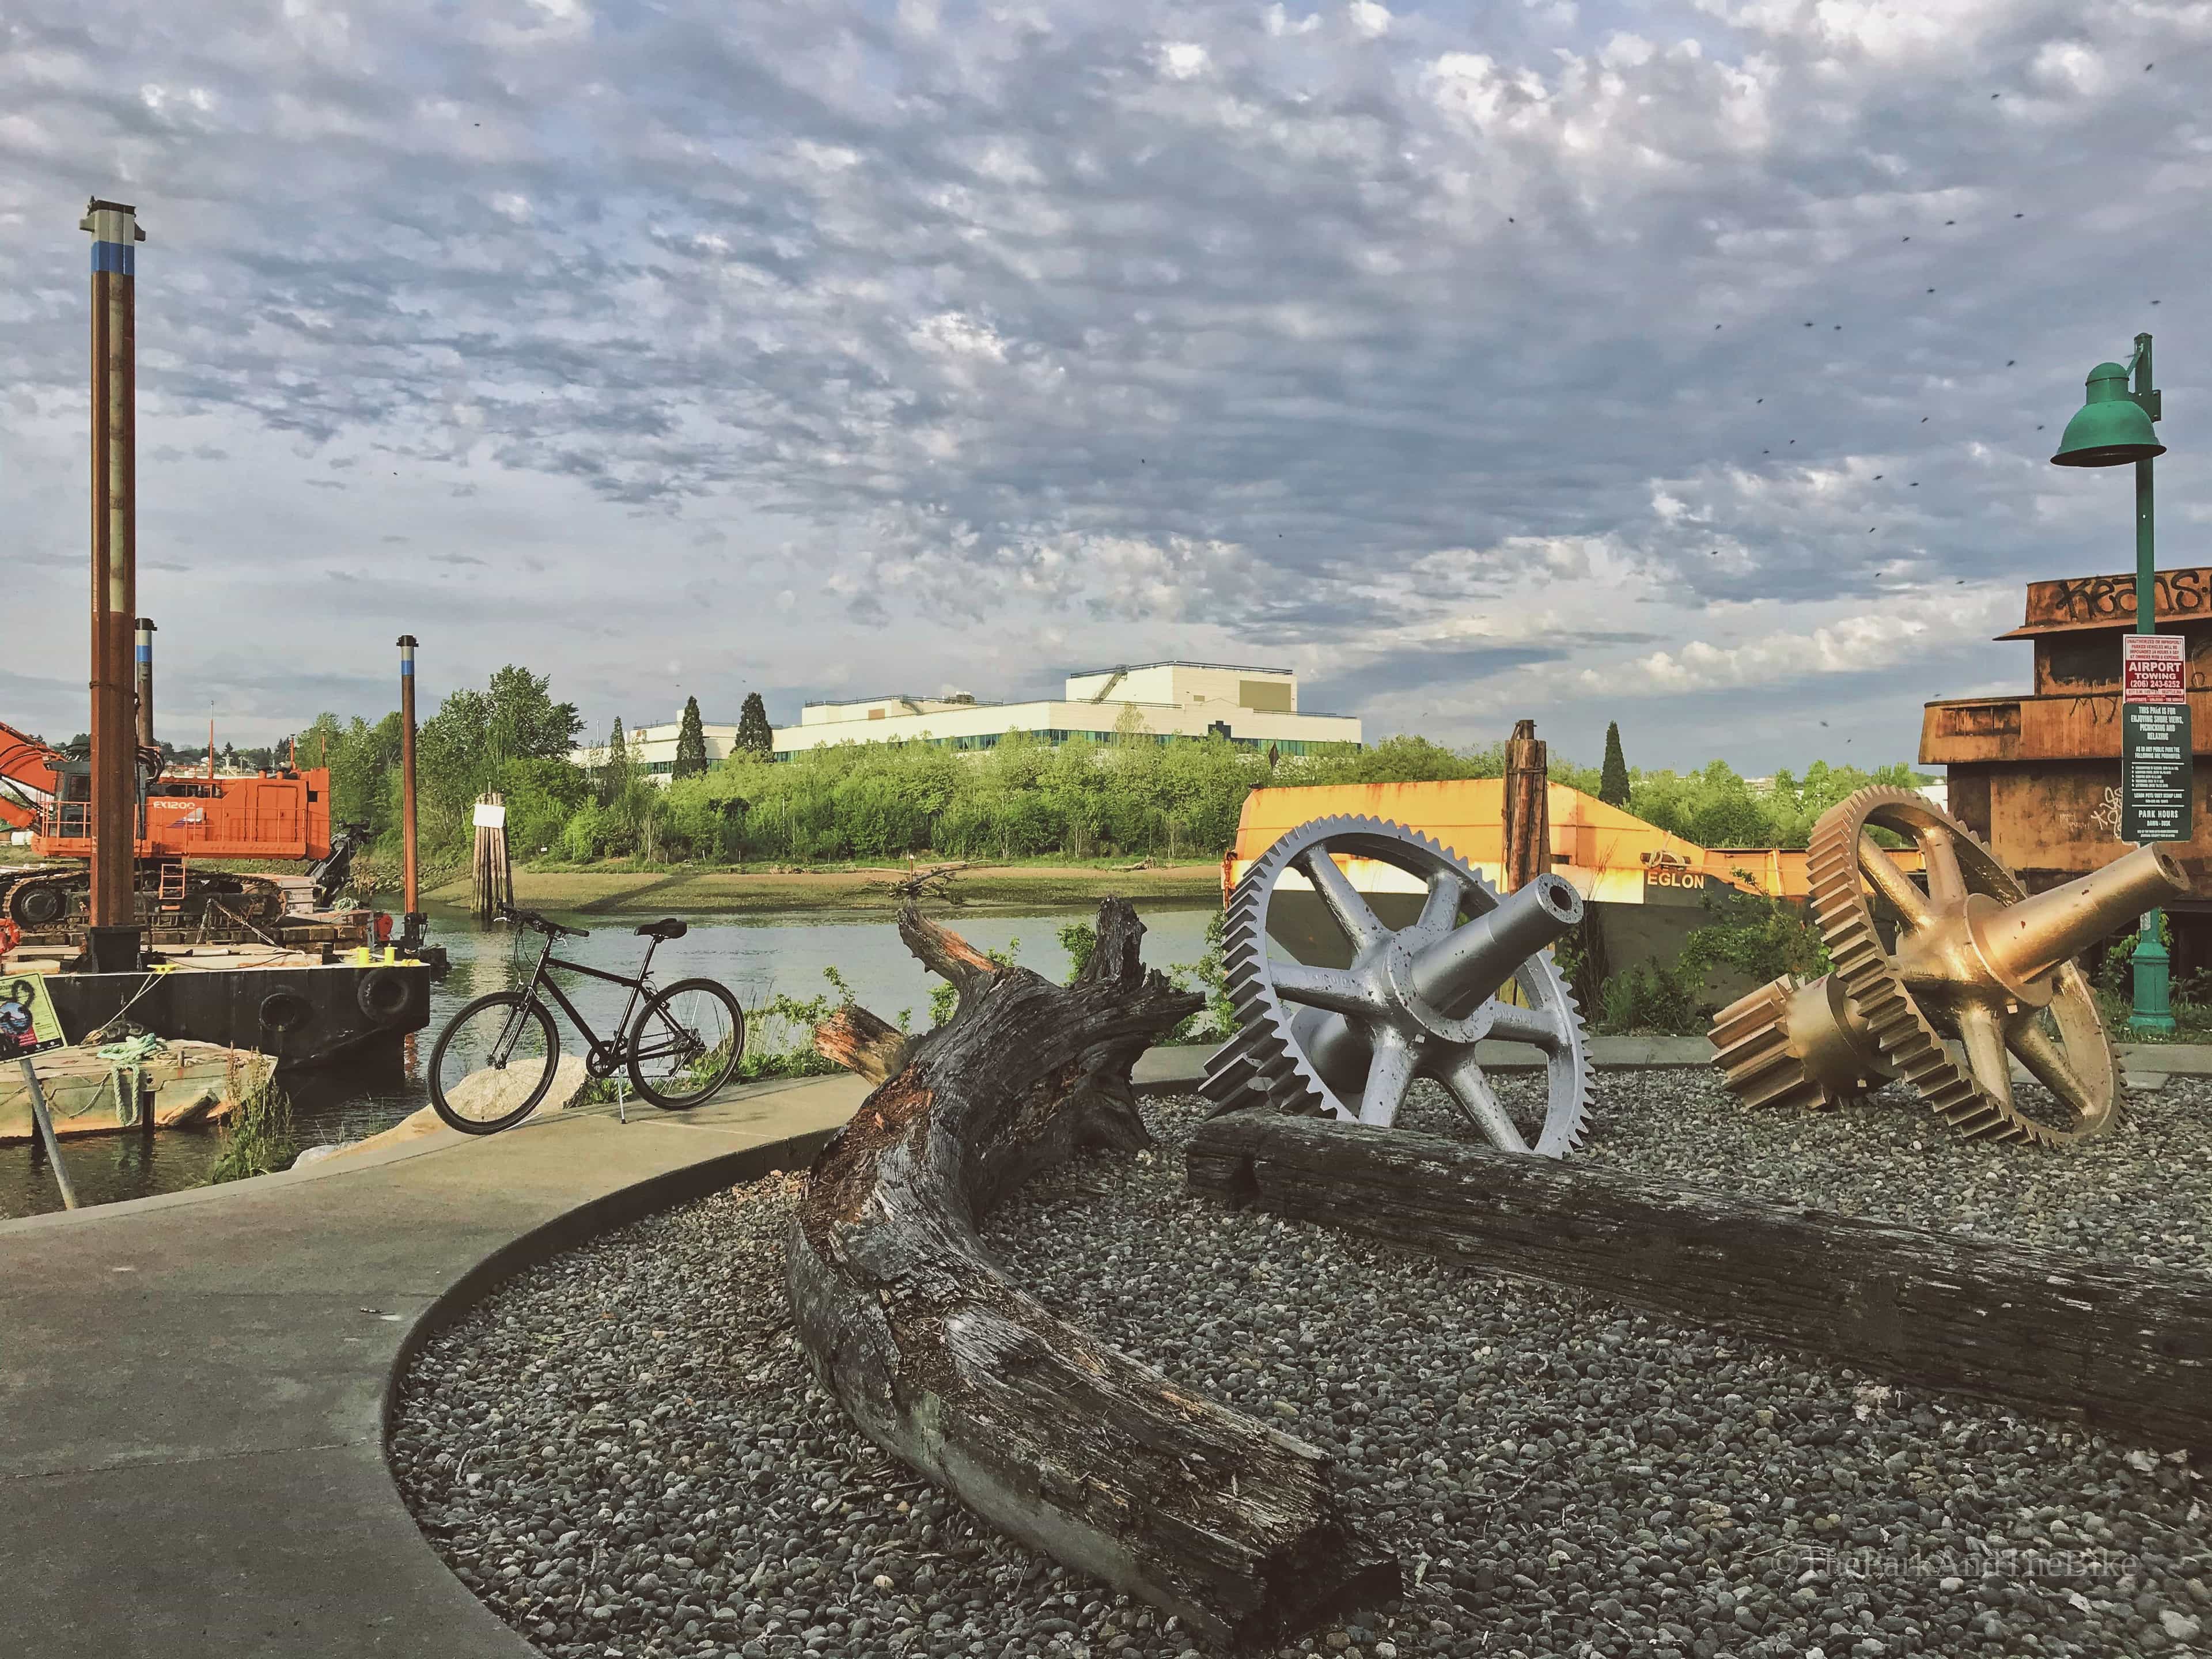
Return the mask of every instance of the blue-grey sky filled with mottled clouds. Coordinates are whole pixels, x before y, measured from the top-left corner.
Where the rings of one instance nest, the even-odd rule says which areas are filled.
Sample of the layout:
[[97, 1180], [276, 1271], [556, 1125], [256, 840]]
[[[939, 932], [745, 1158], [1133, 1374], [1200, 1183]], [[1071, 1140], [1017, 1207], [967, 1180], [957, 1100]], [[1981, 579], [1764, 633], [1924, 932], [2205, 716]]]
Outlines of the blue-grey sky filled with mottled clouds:
[[13, 0], [0, 719], [84, 726], [104, 195], [177, 741], [407, 630], [595, 732], [1177, 655], [1909, 759], [2128, 566], [2046, 456], [2137, 330], [2212, 560], [2208, 88], [2201, 0]]

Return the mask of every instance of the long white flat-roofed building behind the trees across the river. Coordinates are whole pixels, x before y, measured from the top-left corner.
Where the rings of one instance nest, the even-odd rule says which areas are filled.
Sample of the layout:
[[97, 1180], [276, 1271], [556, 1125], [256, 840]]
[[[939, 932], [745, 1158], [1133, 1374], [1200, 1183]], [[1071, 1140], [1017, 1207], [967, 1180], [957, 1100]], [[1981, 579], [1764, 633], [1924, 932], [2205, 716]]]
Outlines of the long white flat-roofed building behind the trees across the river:
[[[1219, 732], [1239, 748], [1281, 754], [1360, 741], [1352, 714], [1298, 712], [1298, 677], [1290, 668], [1150, 661], [1068, 675], [1064, 697], [1037, 703], [978, 703], [973, 697], [807, 703], [799, 726], [776, 728], [774, 745], [781, 761], [825, 743], [925, 741], [989, 750], [1009, 732], [1066, 743], [1073, 737], [1106, 741], [1130, 728], [1161, 743]], [[714, 752], [712, 743], [708, 748]]]

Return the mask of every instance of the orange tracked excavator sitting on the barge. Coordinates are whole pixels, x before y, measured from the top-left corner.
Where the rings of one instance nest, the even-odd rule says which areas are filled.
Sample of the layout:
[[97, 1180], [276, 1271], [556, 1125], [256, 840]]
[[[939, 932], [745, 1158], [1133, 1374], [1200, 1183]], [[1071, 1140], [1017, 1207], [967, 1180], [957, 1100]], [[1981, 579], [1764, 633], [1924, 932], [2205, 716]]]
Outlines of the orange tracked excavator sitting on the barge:
[[[0, 865], [0, 922], [24, 938], [71, 938], [86, 922], [93, 856], [91, 765], [0, 721], [0, 825], [29, 832], [38, 863]], [[358, 825], [330, 834], [330, 772], [215, 776], [166, 772], [139, 750], [137, 920], [146, 927], [257, 931], [288, 909], [285, 883], [195, 869], [206, 858], [312, 860], [316, 909], [345, 885]]]

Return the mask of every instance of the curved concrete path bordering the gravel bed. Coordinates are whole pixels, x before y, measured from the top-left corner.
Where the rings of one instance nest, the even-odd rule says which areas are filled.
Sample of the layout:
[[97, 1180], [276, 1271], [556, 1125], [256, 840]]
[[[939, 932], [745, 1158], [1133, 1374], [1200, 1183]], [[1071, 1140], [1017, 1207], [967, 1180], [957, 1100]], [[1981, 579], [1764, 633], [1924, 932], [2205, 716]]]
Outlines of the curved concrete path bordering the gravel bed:
[[628, 1124], [440, 1130], [0, 1221], [0, 1650], [526, 1659], [400, 1504], [396, 1367], [515, 1267], [803, 1168], [865, 1093], [818, 1077]]

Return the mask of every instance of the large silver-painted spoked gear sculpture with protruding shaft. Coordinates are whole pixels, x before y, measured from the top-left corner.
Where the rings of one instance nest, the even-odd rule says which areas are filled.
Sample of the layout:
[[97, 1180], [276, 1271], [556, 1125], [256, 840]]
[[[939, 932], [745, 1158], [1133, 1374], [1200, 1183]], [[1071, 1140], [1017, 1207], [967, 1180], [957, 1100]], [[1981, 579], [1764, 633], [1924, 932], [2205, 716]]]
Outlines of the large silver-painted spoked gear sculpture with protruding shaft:
[[[1427, 887], [1420, 916], [1387, 927], [1329, 854], [1376, 858]], [[1352, 967], [1267, 956], [1267, 907], [1283, 872], [1305, 876], [1352, 945]], [[1462, 914], [1469, 920], [1460, 920]], [[1590, 1068], [1582, 1013], [1551, 945], [1582, 920], [1582, 896], [1537, 876], [1511, 896], [1429, 836], [1383, 818], [1314, 818], [1276, 841], [1230, 894], [1221, 964], [1237, 1035], [1208, 1062], [1214, 1113], [1270, 1104], [1389, 1126], [1416, 1077], [1433, 1077], [1500, 1150], [1564, 1157], [1582, 1141]], [[1513, 982], [1522, 1004], [1500, 1000]], [[1546, 1057], [1535, 1146], [1475, 1060], [1484, 1037]]]

